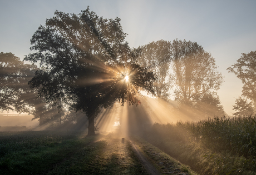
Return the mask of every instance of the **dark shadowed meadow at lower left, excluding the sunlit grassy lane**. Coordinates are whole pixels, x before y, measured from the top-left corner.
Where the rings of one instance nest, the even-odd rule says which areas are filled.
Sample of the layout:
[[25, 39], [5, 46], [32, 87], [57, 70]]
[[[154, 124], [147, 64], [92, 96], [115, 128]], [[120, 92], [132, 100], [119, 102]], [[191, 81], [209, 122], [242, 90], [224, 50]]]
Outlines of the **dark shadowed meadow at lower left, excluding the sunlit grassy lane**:
[[40, 174], [54, 169], [96, 138], [77, 132], [1, 132], [0, 174]]

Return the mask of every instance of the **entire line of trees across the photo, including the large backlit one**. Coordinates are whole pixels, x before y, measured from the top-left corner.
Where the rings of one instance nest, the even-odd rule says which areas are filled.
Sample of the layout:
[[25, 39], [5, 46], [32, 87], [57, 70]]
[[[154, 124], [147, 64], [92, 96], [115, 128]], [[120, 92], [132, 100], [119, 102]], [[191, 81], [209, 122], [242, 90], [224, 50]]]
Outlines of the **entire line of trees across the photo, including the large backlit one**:
[[[24, 58], [31, 64], [0, 53], [0, 109], [32, 113], [40, 125], [56, 119], [63, 123], [63, 115], [77, 121], [70, 111], [81, 111], [89, 135], [95, 133], [101, 108], [116, 102], [137, 105], [140, 91], [166, 102], [174, 97], [180, 107], [208, 116], [225, 114], [217, 94], [224, 77], [202, 46], [176, 39], [130, 48], [126, 35], [120, 18], [99, 17], [88, 7], [80, 14], [56, 11], [32, 36], [33, 53]], [[254, 113], [255, 58], [256, 51], [243, 53], [228, 68], [244, 84], [234, 115]]]

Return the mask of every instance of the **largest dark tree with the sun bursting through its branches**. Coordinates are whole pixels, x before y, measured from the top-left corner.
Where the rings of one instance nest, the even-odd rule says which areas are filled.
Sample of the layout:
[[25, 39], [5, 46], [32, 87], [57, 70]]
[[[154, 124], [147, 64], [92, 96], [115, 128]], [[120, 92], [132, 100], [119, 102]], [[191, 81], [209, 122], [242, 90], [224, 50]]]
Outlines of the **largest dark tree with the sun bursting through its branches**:
[[[140, 88], [154, 93], [154, 74], [132, 62], [120, 19], [98, 17], [89, 8], [80, 14], [55, 12], [31, 39], [27, 61], [40, 70], [29, 82], [47, 103], [60, 101], [88, 117], [88, 135], [101, 107], [136, 104]], [[129, 76], [129, 81], [125, 77]]]

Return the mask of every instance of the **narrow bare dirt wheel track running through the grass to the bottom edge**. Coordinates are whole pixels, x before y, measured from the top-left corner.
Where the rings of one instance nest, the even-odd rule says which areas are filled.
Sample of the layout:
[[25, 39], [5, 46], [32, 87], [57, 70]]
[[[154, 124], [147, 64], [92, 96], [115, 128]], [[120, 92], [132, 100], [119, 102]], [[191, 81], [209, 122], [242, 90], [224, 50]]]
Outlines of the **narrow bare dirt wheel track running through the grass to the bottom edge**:
[[159, 175], [161, 174], [152, 164], [151, 162], [149, 161], [149, 159], [147, 159], [143, 154], [142, 152], [137, 149], [136, 145], [134, 144], [134, 142], [131, 142], [131, 145], [132, 145], [132, 149], [133, 151], [135, 152], [135, 154], [137, 155], [137, 157], [139, 158], [140, 162], [143, 164], [143, 166], [146, 168], [147, 172], [149, 174], [152, 174], [152, 175]]

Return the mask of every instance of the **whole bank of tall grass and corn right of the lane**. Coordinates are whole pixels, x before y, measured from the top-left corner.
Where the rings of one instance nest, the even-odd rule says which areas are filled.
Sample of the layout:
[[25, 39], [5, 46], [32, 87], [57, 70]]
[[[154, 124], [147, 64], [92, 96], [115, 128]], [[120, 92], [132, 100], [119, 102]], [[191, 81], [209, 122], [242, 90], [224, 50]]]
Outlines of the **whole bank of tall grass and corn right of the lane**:
[[154, 124], [145, 139], [200, 174], [256, 174], [256, 116]]

